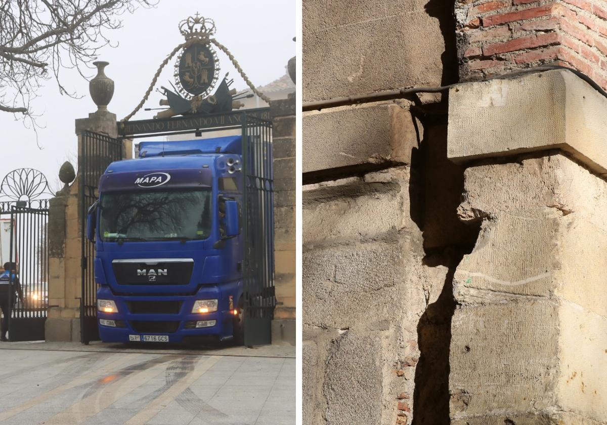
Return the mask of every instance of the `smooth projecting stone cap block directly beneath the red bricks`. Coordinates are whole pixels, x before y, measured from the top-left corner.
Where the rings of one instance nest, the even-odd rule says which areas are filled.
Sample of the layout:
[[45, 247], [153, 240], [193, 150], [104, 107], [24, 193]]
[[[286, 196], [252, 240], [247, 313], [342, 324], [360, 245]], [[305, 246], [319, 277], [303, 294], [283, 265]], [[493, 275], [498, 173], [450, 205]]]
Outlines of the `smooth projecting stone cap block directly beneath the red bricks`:
[[449, 91], [453, 161], [562, 149], [607, 173], [607, 98], [568, 70], [490, 80]]

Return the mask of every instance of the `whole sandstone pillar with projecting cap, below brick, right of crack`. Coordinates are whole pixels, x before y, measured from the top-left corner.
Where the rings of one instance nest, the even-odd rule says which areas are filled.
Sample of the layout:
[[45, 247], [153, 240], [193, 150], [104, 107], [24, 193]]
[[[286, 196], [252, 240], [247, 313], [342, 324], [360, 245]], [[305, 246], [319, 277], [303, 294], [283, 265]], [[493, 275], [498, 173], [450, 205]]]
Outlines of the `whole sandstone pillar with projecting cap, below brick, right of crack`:
[[605, 110], [565, 70], [450, 91], [459, 216], [481, 222], [453, 279], [452, 424], [607, 421]]

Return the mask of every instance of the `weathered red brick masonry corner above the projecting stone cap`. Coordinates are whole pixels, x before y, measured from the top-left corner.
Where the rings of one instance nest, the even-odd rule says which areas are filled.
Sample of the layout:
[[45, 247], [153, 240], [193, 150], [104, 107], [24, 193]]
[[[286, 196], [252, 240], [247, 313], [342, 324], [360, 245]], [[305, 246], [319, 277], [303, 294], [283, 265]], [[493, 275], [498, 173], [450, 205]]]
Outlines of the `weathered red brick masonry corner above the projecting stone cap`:
[[603, 1], [458, 0], [455, 12], [463, 80], [554, 63], [607, 87]]

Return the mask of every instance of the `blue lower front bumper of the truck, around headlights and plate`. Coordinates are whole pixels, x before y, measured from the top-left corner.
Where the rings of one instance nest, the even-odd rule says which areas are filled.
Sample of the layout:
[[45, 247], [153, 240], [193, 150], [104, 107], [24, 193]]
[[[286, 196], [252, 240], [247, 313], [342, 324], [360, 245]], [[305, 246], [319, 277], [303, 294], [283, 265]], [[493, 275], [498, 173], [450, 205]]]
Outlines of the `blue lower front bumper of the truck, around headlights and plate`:
[[[217, 299], [216, 288], [205, 288], [195, 296], [116, 296], [107, 287], [98, 290], [98, 299], [111, 299], [118, 312], [97, 312], [99, 336], [103, 342], [182, 342], [188, 340], [231, 339], [233, 335], [234, 315], [219, 302], [219, 308], [212, 313], [191, 313], [196, 299]], [[202, 292], [202, 293], [201, 293]], [[179, 311], [167, 313], [133, 313], [135, 302], [174, 302], [180, 305]], [[130, 304], [129, 304], [130, 303]], [[224, 307], [224, 308], [222, 308]], [[205, 322], [205, 327], [196, 327]], [[214, 322], [214, 323], [213, 323]], [[113, 324], [113, 326], [112, 326]], [[155, 337], [162, 338], [155, 338]], [[165, 338], [166, 337], [166, 338]], [[168, 341], [167, 341], [168, 339]]]

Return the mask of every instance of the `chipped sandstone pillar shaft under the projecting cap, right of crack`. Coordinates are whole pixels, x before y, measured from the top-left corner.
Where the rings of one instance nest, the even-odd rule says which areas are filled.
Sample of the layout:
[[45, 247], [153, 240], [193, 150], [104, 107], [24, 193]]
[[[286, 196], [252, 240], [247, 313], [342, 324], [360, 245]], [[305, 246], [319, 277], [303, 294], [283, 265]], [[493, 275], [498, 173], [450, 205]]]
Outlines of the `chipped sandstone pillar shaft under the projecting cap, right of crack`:
[[452, 423], [606, 423], [607, 183], [552, 151], [465, 188], [481, 232], [453, 281]]

